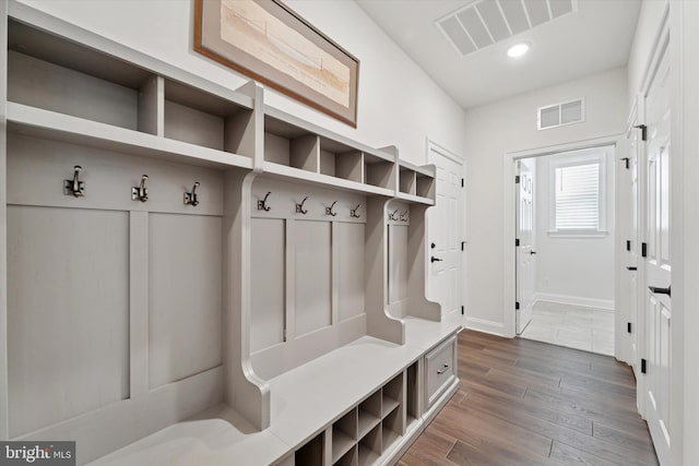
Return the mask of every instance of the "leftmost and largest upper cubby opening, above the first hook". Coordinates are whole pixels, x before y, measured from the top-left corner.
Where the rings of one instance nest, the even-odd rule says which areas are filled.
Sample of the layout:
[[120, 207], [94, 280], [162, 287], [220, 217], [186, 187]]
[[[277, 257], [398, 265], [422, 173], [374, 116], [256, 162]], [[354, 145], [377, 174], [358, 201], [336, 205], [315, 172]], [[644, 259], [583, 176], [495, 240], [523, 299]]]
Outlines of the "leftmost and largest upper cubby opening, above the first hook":
[[8, 48], [8, 100], [154, 134], [153, 73], [14, 20]]

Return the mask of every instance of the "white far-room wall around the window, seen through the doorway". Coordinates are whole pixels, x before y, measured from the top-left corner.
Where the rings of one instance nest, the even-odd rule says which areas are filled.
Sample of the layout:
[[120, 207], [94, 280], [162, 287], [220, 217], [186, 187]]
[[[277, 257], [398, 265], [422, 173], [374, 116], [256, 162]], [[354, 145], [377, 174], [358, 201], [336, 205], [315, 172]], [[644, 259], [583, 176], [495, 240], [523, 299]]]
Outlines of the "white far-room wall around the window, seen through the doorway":
[[536, 295], [614, 309], [614, 159], [606, 160], [606, 230], [601, 238], [552, 237], [549, 155], [536, 158]]

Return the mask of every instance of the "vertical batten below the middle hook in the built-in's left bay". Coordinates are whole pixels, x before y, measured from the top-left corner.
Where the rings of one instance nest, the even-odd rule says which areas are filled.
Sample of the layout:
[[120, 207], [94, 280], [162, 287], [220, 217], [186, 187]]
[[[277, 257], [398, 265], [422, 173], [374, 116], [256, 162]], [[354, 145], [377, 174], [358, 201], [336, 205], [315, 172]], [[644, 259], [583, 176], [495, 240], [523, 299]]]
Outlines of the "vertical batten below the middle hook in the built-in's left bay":
[[130, 392], [149, 392], [149, 213], [129, 214]]

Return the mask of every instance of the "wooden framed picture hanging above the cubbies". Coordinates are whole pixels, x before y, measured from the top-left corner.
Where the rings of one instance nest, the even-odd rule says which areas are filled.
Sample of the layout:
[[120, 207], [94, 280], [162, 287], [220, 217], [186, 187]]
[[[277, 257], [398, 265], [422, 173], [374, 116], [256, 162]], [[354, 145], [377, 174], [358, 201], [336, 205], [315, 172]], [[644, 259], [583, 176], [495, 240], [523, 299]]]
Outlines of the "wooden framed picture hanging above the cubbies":
[[359, 61], [280, 0], [194, 0], [194, 50], [357, 126]]

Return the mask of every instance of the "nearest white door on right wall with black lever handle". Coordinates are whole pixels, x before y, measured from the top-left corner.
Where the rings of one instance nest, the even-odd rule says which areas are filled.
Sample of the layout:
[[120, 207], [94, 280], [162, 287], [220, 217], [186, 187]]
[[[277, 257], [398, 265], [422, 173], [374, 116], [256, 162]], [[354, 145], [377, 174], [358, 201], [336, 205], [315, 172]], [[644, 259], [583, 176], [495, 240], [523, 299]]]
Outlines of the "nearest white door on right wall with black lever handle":
[[671, 464], [670, 361], [672, 347], [670, 255], [671, 108], [667, 53], [645, 97], [648, 120], [644, 260], [645, 416], [661, 465]]

